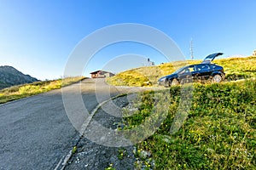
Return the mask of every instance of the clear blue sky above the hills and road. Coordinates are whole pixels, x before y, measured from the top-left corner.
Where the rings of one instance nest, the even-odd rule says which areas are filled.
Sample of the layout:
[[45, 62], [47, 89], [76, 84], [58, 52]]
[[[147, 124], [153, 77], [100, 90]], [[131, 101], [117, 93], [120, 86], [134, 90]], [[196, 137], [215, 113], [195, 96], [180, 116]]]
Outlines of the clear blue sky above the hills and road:
[[[254, 0], [0, 0], [0, 65], [12, 65], [41, 80], [59, 78], [84, 37], [121, 23], [163, 31], [187, 59], [191, 38], [195, 59], [215, 52], [247, 56], [256, 49], [255, 8]], [[140, 57], [132, 64], [125, 54]], [[103, 48], [84, 66], [84, 75], [110, 69], [110, 61], [118, 56], [124, 65], [113, 64], [114, 72], [146, 65], [146, 58], [166, 62], [152, 48], [124, 42]]]

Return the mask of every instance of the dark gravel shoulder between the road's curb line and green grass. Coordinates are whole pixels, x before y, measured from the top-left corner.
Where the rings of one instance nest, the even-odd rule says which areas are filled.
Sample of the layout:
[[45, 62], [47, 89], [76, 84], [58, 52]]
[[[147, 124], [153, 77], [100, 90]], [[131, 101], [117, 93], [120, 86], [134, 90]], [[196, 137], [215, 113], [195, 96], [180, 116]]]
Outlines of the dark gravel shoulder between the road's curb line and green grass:
[[[115, 131], [119, 122], [122, 122], [122, 108], [131, 104], [132, 100], [136, 98], [137, 94], [128, 94], [110, 100], [96, 111], [92, 119], [93, 122], [99, 123], [110, 131]], [[77, 150], [65, 169], [134, 169], [136, 158], [133, 154], [133, 145], [110, 147], [97, 144], [84, 136], [79, 140], [76, 146]], [[99, 138], [101, 137], [99, 136]]]

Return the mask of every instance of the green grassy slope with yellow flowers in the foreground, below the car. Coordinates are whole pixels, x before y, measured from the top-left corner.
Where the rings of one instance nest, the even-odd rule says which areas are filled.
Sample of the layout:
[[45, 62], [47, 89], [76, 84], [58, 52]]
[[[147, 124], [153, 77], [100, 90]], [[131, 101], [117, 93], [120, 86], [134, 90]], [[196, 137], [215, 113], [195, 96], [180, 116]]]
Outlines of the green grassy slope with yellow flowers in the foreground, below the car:
[[[167, 111], [154, 135], [137, 144], [137, 169], [256, 169], [256, 80], [194, 84], [189, 114], [171, 134], [181, 88], [141, 94], [138, 110], [125, 118], [127, 130]], [[169, 105], [160, 104], [157, 96]]]

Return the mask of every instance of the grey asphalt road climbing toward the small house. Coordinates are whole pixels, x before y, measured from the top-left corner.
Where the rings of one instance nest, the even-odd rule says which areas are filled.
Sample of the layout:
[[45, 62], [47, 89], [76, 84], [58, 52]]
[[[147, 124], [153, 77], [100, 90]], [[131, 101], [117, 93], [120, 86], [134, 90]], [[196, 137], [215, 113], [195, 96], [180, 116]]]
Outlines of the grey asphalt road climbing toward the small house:
[[[102, 79], [62, 88], [70, 95], [78, 89], [89, 112], [110, 97], [133, 91], [109, 87]], [[65, 111], [61, 89], [0, 105], [0, 117], [1, 170], [54, 169], [79, 139]]]

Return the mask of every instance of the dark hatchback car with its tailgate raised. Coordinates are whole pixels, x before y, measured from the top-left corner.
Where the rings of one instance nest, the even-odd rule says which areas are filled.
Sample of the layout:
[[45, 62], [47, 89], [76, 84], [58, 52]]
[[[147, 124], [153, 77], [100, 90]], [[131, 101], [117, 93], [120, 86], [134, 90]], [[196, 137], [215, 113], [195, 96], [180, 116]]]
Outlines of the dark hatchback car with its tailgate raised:
[[212, 60], [223, 53], [210, 54], [198, 65], [188, 65], [178, 69], [171, 75], [161, 77], [158, 84], [170, 87], [172, 85], [187, 82], [201, 82], [211, 80], [221, 82], [224, 80], [224, 68], [220, 65], [212, 64]]

